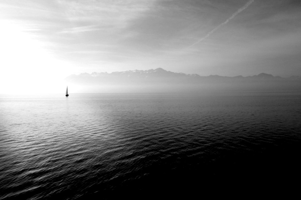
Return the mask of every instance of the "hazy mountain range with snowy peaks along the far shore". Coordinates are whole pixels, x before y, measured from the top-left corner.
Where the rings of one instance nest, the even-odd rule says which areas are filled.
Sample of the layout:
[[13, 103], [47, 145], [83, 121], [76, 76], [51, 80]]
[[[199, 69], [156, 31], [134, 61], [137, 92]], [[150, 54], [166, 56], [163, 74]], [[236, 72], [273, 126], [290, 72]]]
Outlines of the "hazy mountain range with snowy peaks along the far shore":
[[196, 92], [300, 90], [301, 77], [282, 78], [261, 73], [254, 76], [199, 76], [162, 68], [122, 72], [93, 72], [66, 77], [75, 92]]

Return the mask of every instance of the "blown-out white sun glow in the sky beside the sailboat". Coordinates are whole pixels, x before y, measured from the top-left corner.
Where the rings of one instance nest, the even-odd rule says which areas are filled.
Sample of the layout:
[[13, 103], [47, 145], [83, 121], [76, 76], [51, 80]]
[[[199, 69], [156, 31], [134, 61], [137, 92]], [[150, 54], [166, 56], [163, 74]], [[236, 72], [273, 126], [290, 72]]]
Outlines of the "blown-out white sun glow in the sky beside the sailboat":
[[63, 92], [69, 75], [63, 62], [54, 59], [26, 30], [0, 21], [0, 94]]

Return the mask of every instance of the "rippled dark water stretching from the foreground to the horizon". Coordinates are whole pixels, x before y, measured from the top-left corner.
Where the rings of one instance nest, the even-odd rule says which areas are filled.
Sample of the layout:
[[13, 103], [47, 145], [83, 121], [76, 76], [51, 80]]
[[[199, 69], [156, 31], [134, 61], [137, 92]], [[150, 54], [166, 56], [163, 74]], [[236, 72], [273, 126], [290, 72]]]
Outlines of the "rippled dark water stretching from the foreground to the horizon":
[[0, 199], [160, 199], [300, 182], [296, 92], [1, 95], [0, 109]]

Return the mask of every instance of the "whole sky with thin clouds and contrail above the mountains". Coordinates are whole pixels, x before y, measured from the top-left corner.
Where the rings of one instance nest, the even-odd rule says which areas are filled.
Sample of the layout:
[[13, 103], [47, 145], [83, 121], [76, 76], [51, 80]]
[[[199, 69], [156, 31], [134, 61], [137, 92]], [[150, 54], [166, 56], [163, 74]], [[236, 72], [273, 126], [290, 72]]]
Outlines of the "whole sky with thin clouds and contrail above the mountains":
[[159, 67], [301, 75], [300, 0], [0, 0], [0, 27], [0, 93]]

